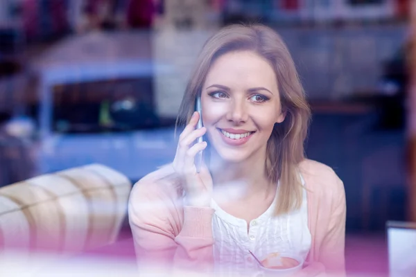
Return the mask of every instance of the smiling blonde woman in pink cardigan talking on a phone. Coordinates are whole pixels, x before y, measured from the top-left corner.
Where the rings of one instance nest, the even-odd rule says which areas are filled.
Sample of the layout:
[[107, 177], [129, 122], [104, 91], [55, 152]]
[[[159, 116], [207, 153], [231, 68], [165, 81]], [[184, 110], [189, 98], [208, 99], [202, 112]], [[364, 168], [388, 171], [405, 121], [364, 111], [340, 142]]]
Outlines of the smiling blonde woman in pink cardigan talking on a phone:
[[272, 29], [233, 25], [211, 37], [184, 93], [178, 119], [187, 125], [173, 163], [130, 196], [141, 265], [244, 274], [256, 267], [248, 251], [291, 251], [306, 260], [306, 276], [344, 274], [343, 182], [304, 158], [309, 117], [291, 55]]

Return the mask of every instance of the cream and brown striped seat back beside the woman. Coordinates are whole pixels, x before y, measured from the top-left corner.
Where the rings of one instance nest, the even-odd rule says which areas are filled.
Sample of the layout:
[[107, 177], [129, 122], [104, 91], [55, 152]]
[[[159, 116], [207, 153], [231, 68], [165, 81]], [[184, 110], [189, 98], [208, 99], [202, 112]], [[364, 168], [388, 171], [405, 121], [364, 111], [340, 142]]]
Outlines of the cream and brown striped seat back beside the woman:
[[0, 253], [79, 253], [116, 240], [131, 182], [93, 164], [0, 188]]

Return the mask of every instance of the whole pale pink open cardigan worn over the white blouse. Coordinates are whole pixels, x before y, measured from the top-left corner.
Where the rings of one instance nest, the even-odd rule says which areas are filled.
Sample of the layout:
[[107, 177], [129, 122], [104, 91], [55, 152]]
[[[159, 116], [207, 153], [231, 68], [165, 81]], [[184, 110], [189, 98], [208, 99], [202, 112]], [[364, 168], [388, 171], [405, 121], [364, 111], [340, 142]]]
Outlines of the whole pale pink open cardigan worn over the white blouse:
[[[345, 275], [345, 190], [328, 166], [300, 163], [307, 189], [311, 250], [306, 262], [323, 265], [327, 274]], [[141, 179], [132, 189], [128, 206], [137, 259], [179, 269], [210, 272], [214, 238], [212, 208], [182, 206], [182, 190], [168, 176], [166, 166]]]

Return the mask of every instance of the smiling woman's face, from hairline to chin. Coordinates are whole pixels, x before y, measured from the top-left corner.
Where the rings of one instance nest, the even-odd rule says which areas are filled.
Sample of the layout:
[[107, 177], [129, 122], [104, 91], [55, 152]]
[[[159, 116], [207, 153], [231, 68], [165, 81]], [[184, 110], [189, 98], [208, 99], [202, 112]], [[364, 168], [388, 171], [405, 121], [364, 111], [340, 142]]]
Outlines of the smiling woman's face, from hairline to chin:
[[252, 51], [226, 53], [202, 86], [202, 119], [211, 145], [225, 161], [266, 153], [275, 123], [284, 120], [275, 71]]

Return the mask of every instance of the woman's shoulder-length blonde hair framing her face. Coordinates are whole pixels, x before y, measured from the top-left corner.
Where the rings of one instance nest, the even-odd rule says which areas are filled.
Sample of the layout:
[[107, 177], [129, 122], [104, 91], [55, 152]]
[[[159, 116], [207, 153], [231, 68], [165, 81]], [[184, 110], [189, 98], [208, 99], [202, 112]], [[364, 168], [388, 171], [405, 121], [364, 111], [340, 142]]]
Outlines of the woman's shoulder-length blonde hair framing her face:
[[291, 54], [274, 30], [263, 25], [234, 24], [218, 31], [207, 40], [196, 61], [196, 68], [184, 93], [177, 116], [177, 126], [186, 125], [194, 111], [196, 96], [202, 90], [214, 60], [232, 51], [254, 51], [274, 69], [279, 85], [285, 120], [276, 124], [267, 144], [266, 174], [277, 183], [275, 215], [288, 213], [302, 204], [302, 183], [299, 163], [304, 157], [304, 140], [311, 111]]

